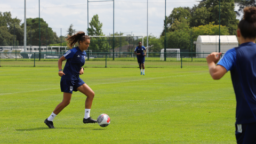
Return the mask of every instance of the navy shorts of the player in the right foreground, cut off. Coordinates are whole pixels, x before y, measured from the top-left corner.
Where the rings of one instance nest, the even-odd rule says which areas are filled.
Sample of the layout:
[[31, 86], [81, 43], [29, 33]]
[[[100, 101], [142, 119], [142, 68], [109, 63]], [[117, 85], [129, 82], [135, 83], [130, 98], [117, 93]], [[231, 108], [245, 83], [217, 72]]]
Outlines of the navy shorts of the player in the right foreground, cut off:
[[236, 124], [236, 142], [238, 144], [256, 143], [256, 123]]

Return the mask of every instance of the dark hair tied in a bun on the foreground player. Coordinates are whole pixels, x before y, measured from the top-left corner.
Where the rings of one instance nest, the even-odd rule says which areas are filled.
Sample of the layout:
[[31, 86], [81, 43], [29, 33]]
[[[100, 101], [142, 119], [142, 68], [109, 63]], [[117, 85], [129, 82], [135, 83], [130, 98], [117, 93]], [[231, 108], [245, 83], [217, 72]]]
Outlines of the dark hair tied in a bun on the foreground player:
[[256, 7], [244, 8], [244, 17], [238, 23], [238, 28], [244, 38], [256, 38]]

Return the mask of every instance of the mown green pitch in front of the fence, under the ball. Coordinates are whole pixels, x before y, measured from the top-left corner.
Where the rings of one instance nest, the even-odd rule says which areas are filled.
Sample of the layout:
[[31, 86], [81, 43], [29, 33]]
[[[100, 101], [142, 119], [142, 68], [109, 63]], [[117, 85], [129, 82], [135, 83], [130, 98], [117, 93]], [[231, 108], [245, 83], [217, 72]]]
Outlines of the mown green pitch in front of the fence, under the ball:
[[230, 73], [207, 68], [85, 68], [95, 92], [84, 124], [85, 95], [74, 92], [49, 129], [44, 119], [62, 101], [57, 67], [0, 67], [0, 143], [236, 143]]

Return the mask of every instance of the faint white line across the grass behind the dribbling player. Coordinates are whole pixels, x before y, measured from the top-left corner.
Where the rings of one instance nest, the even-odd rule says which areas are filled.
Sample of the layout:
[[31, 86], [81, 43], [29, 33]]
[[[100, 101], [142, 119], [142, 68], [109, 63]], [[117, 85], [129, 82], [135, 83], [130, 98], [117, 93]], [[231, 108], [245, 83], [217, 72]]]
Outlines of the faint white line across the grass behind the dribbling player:
[[[193, 74], [193, 75], [202, 75], [202, 74], [209, 74], [209, 73], [200, 73], [200, 74]], [[177, 76], [157, 77], [157, 78], [148, 78], [148, 79], [136, 79], [136, 80], [132, 80], [132, 81], [113, 82], [113, 83], [100, 83], [100, 84], [115, 84], [115, 83], [145, 81], [145, 80], [150, 80], [150, 79], [170, 78], [170, 77], [180, 77], [180, 76], [193, 76], [193, 75], [177, 75]], [[100, 84], [91, 84], [91, 85], [100, 85]], [[46, 90], [53, 90], [53, 89], [60, 89], [60, 87], [52, 88], [52, 89], [36, 90], [36, 91], [46, 91]], [[25, 92], [36, 92], [36, 91], [25, 91]], [[24, 92], [4, 93], [4, 94], [0, 94], [0, 95], [15, 94], [15, 93], [24, 93]]]

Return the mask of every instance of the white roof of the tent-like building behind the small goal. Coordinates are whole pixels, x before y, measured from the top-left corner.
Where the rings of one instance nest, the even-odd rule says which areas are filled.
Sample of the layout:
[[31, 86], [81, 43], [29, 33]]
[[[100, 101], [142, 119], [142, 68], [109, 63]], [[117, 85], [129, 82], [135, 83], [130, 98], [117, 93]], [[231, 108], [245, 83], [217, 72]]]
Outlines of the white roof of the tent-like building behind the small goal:
[[[204, 35], [198, 36], [196, 43], [219, 43], [219, 35]], [[235, 35], [223, 35], [220, 36], [220, 43], [238, 43], [237, 37]]]

